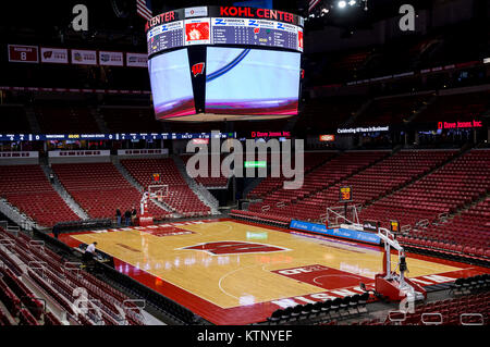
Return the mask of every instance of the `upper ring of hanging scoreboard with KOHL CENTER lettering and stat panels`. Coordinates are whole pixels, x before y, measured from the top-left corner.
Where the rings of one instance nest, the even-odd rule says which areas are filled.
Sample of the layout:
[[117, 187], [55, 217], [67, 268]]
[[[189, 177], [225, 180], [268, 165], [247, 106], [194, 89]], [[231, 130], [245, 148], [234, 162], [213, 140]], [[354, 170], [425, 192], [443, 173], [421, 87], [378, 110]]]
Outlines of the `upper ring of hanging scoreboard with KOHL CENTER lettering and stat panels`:
[[176, 10], [148, 21], [148, 55], [191, 45], [264, 46], [303, 52], [303, 17], [274, 10], [226, 7]]

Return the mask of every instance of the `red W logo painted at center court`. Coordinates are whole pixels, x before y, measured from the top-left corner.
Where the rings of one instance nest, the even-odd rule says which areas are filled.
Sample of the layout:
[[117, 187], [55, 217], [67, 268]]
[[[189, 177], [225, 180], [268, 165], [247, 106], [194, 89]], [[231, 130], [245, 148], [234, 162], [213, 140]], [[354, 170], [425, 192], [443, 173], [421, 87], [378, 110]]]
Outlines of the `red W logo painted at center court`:
[[201, 250], [208, 252], [211, 256], [224, 256], [224, 255], [243, 255], [243, 253], [270, 253], [278, 251], [287, 251], [290, 249], [257, 243], [245, 241], [215, 241], [204, 243], [194, 246], [188, 246], [180, 249]]

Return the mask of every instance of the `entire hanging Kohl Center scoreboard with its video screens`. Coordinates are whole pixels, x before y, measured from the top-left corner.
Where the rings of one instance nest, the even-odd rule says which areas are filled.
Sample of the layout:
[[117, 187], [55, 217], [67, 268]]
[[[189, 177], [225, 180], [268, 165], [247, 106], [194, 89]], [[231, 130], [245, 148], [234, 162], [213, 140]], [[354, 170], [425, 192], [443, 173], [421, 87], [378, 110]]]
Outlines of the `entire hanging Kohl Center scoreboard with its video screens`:
[[303, 27], [301, 16], [255, 8], [198, 7], [152, 17], [145, 28], [156, 117], [297, 114]]

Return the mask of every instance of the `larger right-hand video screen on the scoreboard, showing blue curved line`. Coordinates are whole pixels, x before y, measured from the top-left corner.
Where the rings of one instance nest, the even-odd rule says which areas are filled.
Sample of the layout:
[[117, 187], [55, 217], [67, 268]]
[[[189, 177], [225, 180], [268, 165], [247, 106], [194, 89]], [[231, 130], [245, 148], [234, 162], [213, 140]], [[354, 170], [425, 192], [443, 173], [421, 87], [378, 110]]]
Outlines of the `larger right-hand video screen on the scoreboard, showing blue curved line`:
[[301, 53], [207, 48], [206, 112], [297, 114]]

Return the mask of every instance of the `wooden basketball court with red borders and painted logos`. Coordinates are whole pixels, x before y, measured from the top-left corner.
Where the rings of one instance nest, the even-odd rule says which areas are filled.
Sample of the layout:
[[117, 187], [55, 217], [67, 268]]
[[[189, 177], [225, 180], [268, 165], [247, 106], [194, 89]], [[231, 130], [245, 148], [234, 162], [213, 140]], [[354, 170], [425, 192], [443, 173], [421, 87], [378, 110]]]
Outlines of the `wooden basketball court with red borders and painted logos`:
[[[363, 293], [382, 272], [382, 248], [232, 220], [161, 224], [63, 235], [97, 241], [118, 271], [215, 324], [264, 321], [278, 308]], [[392, 256], [396, 264], [396, 257]], [[408, 255], [407, 276], [422, 286], [487, 272]]]

